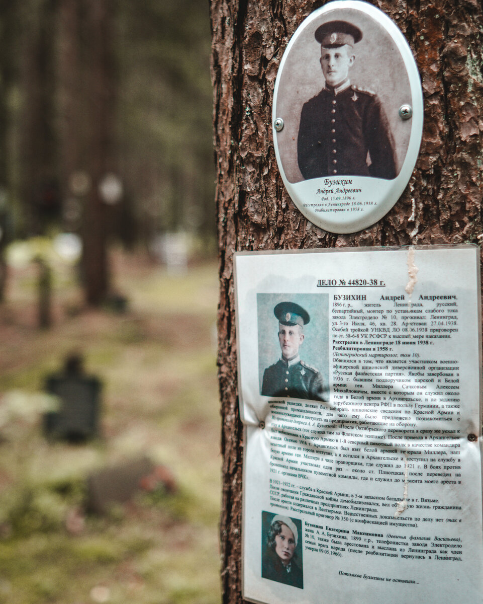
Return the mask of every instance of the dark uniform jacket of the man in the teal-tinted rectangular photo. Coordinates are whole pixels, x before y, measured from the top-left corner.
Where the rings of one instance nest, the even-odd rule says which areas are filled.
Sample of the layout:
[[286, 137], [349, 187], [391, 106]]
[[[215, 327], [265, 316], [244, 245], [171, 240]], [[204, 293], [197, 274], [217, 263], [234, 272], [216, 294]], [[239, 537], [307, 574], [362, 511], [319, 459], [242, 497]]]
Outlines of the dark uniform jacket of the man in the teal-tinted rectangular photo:
[[280, 359], [264, 371], [264, 396], [289, 396], [296, 399], [325, 400], [322, 377], [317, 369], [300, 358]]

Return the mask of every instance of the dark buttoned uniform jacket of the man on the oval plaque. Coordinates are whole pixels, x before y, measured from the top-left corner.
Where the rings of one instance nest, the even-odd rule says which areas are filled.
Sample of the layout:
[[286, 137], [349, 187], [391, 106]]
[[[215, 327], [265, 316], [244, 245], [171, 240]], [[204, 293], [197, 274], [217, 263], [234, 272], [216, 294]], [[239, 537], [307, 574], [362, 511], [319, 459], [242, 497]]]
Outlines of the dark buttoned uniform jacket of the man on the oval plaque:
[[393, 137], [379, 98], [351, 86], [349, 80], [335, 89], [326, 85], [304, 104], [297, 152], [305, 179], [341, 175], [396, 178]]

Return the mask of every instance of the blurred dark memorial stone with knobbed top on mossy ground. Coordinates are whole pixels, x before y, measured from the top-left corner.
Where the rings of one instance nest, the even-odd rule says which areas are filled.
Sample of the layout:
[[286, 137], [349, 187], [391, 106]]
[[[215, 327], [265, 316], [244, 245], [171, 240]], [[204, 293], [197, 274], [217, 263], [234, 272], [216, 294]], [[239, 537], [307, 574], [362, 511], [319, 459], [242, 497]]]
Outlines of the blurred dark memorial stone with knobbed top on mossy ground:
[[45, 389], [60, 398], [60, 409], [43, 416], [46, 437], [82, 442], [98, 432], [101, 381], [84, 374], [82, 358], [71, 355], [64, 370], [46, 379]]

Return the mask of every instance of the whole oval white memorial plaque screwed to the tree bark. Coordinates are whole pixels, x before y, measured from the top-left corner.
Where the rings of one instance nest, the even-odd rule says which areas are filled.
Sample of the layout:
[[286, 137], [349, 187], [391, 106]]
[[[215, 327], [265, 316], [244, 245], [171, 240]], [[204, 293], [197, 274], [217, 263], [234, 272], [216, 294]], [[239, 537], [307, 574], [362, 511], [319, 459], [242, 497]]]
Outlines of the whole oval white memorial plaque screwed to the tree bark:
[[306, 218], [331, 233], [380, 220], [411, 178], [423, 130], [402, 32], [358, 0], [314, 11], [283, 54], [272, 121], [283, 182]]

